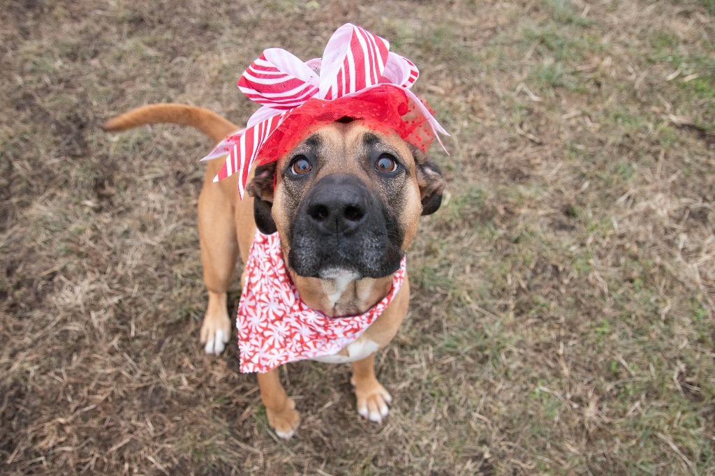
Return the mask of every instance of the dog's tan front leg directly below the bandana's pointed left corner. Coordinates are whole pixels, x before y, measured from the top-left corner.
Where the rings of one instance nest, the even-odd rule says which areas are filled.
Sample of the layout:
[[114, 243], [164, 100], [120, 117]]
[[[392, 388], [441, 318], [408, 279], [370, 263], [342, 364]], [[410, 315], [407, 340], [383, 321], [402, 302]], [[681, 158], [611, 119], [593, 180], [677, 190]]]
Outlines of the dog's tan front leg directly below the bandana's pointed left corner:
[[266, 407], [268, 424], [281, 438], [287, 440], [292, 437], [300, 423], [300, 415], [295, 411], [295, 402], [292, 398], [288, 398], [285, 389], [280, 385], [278, 369], [258, 374], [258, 387], [261, 390], [261, 400]]

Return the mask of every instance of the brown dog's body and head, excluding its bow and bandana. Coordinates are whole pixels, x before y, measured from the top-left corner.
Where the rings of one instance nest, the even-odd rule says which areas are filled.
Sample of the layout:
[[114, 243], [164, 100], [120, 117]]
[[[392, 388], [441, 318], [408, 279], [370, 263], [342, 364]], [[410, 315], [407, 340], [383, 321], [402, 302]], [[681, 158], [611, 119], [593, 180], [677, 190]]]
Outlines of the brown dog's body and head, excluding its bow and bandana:
[[[104, 128], [119, 131], [157, 123], [192, 126], [216, 142], [240, 129], [211, 111], [178, 104], [140, 107], [109, 120]], [[212, 181], [223, 162], [208, 162], [199, 195], [199, 244], [209, 292], [200, 340], [209, 354], [222, 352], [230, 337], [227, 288], [239, 253], [246, 262], [256, 227], [280, 235], [290, 277], [305, 304], [327, 316], [359, 314], [389, 292], [395, 260], [413, 241], [420, 214], [440, 207], [445, 186], [439, 168], [423, 152], [397, 134], [374, 132], [360, 121], [327, 124], [277, 162], [251, 171], [250, 197], [243, 200], [237, 175]], [[379, 233], [343, 233], [346, 194], [359, 197], [360, 227]], [[337, 229], [330, 236], [307, 216], [308, 205], [324, 207], [322, 212], [335, 217]], [[395, 336], [409, 299], [405, 274], [385, 312], [355, 342], [320, 359], [352, 362], [358, 412], [375, 422], [388, 414], [391, 400], [375, 377], [375, 352]], [[258, 384], [268, 422], [277, 435], [290, 438], [300, 417], [278, 370], [259, 373]]]

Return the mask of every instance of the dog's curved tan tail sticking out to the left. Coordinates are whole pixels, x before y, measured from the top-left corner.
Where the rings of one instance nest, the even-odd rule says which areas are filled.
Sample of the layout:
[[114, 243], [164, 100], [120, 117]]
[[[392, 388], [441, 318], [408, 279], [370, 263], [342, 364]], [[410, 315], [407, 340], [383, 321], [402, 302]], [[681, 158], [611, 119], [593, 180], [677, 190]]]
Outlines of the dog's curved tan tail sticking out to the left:
[[149, 104], [119, 114], [104, 123], [106, 131], [125, 131], [144, 124], [181, 124], [191, 126], [219, 142], [232, 132], [240, 129], [228, 119], [202, 107], [184, 104]]

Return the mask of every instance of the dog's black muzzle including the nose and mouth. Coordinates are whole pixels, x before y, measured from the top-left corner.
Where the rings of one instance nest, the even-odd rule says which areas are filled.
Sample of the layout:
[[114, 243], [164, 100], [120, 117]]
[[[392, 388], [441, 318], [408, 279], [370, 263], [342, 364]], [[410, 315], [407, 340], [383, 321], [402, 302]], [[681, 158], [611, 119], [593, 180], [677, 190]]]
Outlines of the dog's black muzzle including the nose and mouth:
[[397, 219], [360, 178], [330, 174], [300, 204], [288, 264], [306, 277], [384, 277], [400, 267], [403, 236]]

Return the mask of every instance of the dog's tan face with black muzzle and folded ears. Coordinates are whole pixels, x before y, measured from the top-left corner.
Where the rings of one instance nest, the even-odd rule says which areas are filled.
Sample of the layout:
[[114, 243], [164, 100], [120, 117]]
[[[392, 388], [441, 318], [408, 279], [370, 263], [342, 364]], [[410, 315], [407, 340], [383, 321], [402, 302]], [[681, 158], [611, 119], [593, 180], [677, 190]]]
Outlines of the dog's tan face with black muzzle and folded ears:
[[327, 124], [257, 167], [248, 192], [258, 229], [280, 234], [293, 271], [361, 279], [397, 271], [420, 214], [440, 207], [443, 189], [426, 154], [353, 121]]

